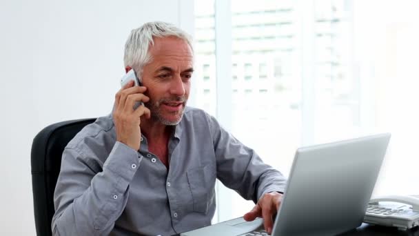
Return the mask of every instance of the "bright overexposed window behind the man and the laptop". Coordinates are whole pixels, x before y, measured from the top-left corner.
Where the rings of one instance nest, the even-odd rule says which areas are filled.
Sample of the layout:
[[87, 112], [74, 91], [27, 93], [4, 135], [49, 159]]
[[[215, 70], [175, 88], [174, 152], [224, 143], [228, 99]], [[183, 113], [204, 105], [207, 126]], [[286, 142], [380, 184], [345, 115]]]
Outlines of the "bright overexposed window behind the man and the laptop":
[[[417, 119], [411, 118], [419, 112], [407, 112], [416, 107], [418, 86], [411, 81], [417, 79], [406, 79], [418, 77], [413, 61], [419, 53], [414, 33], [419, 17], [413, 10], [416, 3], [403, 3], [196, 1], [196, 57], [209, 66], [195, 81], [210, 91], [197, 103], [285, 175], [299, 146], [379, 131], [409, 139], [409, 131], [419, 130]], [[383, 10], [377, 10], [381, 4]], [[373, 9], [378, 17], [371, 20]], [[404, 165], [391, 159], [394, 148], [416, 153], [404, 143], [415, 146], [393, 136], [387, 152], [389, 163], [399, 168]], [[412, 161], [407, 152], [401, 156], [405, 163]], [[383, 173], [392, 173], [398, 183], [419, 177], [395, 175], [398, 170], [386, 164]], [[376, 193], [407, 194], [411, 188], [402, 184], [396, 192], [391, 189], [378, 181]], [[419, 193], [418, 188], [410, 191]], [[215, 222], [252, 209], [253, 202], [219, 183], [217, 195]]]

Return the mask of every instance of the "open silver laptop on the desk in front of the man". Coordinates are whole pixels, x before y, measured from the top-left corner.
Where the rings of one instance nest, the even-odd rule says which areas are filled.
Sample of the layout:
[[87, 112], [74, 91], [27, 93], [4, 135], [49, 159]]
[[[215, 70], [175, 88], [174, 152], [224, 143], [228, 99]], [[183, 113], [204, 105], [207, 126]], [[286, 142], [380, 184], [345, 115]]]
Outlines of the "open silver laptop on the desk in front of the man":
[[[272, 235], [336, 235], [360, 226], [389, 139], [385, 133], [298, 148]], [[257, 235], [262, 229], [263, 219], [241, 217], [181, 235]]]

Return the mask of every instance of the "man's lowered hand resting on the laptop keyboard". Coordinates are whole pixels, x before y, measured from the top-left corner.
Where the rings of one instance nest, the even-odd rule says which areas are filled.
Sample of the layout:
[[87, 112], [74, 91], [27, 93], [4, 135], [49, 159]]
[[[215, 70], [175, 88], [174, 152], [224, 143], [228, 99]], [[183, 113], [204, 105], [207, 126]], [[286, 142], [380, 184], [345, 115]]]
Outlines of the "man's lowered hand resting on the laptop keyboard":
[[251, 222], [256, 217], [263, 217], [263, 226], [267, 233], [272, 234], [272, 216], [278, 211], [283, 195], [278, 192], [265, 193], [252, 210], [243, 217], [247, 222]]

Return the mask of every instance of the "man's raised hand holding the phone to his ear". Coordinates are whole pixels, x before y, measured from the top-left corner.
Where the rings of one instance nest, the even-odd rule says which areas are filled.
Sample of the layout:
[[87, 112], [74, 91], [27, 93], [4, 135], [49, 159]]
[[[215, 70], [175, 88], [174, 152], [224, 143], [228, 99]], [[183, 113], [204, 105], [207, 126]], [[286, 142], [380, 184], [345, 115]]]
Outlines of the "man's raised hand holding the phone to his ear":
[[116, 128], [116, 141], [120, 141], [134, 150], [140, 149], [141, 116], [145, 115], [147, 119], [150, 119], [150, 110], [145, 106], [141, 105], [136, 110], [133, 108], [136, 101], [147, 102], [150, 100], [143, 94], [145, 90], [147, 88], [134, 86], [134, 81], [130, 81], [115, 95], [112, 116]]

